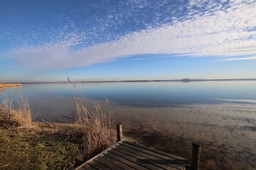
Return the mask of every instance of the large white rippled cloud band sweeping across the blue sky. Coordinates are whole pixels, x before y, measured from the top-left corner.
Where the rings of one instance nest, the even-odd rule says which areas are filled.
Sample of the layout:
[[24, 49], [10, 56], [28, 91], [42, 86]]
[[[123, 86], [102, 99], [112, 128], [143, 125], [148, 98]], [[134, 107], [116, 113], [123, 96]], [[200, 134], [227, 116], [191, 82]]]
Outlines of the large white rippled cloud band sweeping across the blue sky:
[[[140, 8], [145, 5], [140, 3]], [[134, 31], [114, 41], [83, 47], [86, 36], [81, 36], [83, 32], [76, 30], [69, 36], [63, 33], [65, 38], [60, 36], [58, 41], [20, 46], [5, 55], [22, 66], [38, 69], [89, 66], [148, 53], [225, 57], [256, 55], [256, 1], [230, 1], [223, 6], [215, 1], [191, 1], [188, 14], [183, 18], [152, 29]], [[115, 17], [109, 13], [107, 17], [110, 16]], [[255, 57], [223, 60], [242, 59]]]

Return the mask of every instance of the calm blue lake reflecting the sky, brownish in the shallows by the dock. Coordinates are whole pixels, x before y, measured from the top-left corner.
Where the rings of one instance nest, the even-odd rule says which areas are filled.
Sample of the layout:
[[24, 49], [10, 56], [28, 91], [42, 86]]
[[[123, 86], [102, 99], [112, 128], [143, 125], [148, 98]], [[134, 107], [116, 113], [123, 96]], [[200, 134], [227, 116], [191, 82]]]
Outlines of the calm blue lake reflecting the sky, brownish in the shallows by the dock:
[[70, 122], [75, 89], [108, 99], [126, 134], [154, 148], [189, 158], [191, 142], [201, 141], [203, 169], [256, 169], [256, 81], [36, 83], [3, 92], [28, 93], [35, 121]]

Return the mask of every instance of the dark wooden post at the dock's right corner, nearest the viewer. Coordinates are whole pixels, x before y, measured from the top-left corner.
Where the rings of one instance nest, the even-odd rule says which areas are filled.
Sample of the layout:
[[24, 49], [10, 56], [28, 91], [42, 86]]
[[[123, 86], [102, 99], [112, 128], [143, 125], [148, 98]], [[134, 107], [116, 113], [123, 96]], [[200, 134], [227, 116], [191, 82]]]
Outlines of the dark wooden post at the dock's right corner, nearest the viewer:
[[192, 143], [192, 154], [191, 154], [191, 170], [199, 170], [200, 164], [200, 152], [201, 144], [199, 142]]

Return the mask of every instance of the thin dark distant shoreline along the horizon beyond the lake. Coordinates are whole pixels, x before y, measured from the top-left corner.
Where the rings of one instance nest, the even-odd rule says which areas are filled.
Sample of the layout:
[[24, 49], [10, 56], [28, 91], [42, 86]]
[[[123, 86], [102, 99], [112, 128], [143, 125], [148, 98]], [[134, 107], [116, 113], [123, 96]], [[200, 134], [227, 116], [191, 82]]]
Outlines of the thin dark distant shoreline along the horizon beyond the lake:
[[188, 83], [190, 81], [256, 81], [256, 78], [230, 78], [230, 79], [190, 79], [183, 78], [179, 80], [109, 80], [109, 81], [42, 81], [42, 82], [17, 82], [22, 84], [36, 84], [36, 83], [131, 83], [131, 82], [166, 82], [166, 81], [180, 81]]

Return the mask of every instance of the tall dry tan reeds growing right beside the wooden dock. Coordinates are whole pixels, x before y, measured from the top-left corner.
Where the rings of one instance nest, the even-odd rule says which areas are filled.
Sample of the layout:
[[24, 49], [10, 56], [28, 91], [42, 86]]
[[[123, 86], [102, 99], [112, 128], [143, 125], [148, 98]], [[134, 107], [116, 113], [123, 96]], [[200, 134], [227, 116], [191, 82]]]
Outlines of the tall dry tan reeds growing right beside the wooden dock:
[[[74, 84], [76, 89], [76, 85]], [[108, 109], [108, 100], [104, 103], [89, 104], [86, 97], [78, 97], [74, 91], [76, 102], [76, 125], [83, 127], [84, 155], [90, 158], [95, 153], [108, 148], [115, 141], [113, 135], [113, 113]]]

